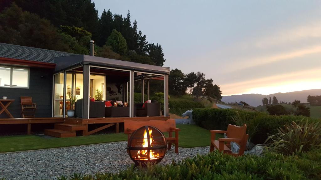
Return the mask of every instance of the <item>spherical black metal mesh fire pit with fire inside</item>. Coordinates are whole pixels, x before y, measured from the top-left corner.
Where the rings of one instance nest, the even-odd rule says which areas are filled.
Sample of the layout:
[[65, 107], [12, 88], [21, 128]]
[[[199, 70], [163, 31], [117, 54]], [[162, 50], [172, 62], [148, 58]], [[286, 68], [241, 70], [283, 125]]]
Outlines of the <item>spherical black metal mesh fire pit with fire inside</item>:
[[165, 135], [156, 127], [143, 126], [131, 136], [127, 145], [127, 152], [135, 165], [146, 166], [148, 162], [160, 162], [167, 149]]

